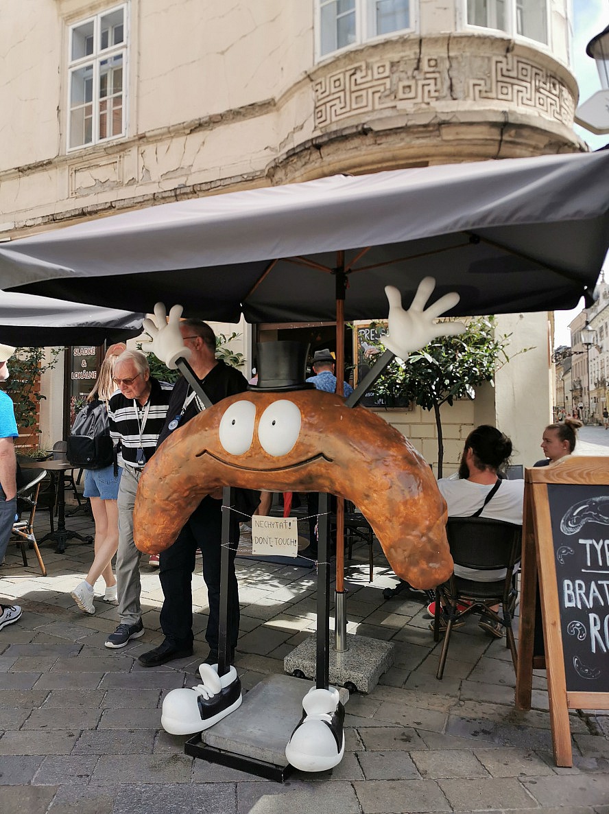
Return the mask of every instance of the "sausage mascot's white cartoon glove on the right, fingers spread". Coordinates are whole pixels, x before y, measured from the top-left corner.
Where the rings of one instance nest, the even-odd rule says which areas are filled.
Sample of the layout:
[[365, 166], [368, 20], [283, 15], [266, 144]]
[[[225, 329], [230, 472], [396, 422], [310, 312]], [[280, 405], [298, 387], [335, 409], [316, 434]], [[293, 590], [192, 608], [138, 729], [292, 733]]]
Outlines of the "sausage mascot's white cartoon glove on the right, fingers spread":
[[436, 287], [433, 277], [425, 277], [419, 283], [410, 309], [402, 309], [402, 295], [394, 286], [385, 286], [389, 300], [389, 335], [383, 337], [387, 350], [400, 359], [406, 359], [411, 351], [424, 348], [437, 336], [456, 336], [465, 330], [463, 322], [433, 322], [445, 311], [459, 302], [459, 294], [451, 291], [425, 309]]

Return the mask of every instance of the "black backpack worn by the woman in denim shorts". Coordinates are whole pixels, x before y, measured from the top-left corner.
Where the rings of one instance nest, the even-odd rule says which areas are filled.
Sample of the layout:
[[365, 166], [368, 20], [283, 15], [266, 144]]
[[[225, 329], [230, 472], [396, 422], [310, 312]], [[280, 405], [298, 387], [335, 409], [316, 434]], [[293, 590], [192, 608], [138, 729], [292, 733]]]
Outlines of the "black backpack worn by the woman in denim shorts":
[[106, 405], [95, 399], [76, 415], [67, 439], [67, 460], [80, 469], [103, 469], [114, 462]]

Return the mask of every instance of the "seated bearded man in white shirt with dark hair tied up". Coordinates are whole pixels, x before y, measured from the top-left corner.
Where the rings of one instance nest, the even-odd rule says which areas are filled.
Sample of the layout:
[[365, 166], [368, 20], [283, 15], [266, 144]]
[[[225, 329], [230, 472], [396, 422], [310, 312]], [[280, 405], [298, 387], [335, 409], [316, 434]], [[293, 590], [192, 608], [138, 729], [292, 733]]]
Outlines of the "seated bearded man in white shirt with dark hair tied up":
[[[437, 482], [448, 516], [485, 517], [522, 525], [524, 480], [507, 480], [498, 475], [510, 456], [511, 440], [496, 427], [482, 424], [472, 430], [465, 441], [459, 477]], [[506, 571], [477, 571], [455, 565], [455, 575], [476, 582], [494, 582], [505, 577]], [[501, 625], [488, 617], [483, 616], [479, 625], [490, 636], [503, 635]]]

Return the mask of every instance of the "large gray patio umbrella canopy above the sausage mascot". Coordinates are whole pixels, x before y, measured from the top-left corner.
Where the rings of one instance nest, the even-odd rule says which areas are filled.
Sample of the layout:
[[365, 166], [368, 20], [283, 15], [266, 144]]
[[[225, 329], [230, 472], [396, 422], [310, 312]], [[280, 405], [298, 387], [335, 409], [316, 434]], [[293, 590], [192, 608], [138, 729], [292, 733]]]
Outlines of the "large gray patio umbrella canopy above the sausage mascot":
[[[609, 151], [246, 190], [100, 217], [0, 247], [0, 287], [236, 322], [387, 313], [426, 274], [454, 315], [589, 301], [609, 246]], [[340, 269], [346, 278], [339, 278]]]

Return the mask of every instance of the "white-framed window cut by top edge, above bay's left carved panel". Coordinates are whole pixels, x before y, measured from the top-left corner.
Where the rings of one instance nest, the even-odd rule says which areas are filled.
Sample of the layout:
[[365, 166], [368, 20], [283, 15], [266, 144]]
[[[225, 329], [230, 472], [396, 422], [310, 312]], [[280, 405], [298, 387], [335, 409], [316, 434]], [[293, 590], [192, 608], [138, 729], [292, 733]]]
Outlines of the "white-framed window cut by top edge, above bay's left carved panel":
[[319, 54], [412, 27], [410, 0], [318, 0]]

